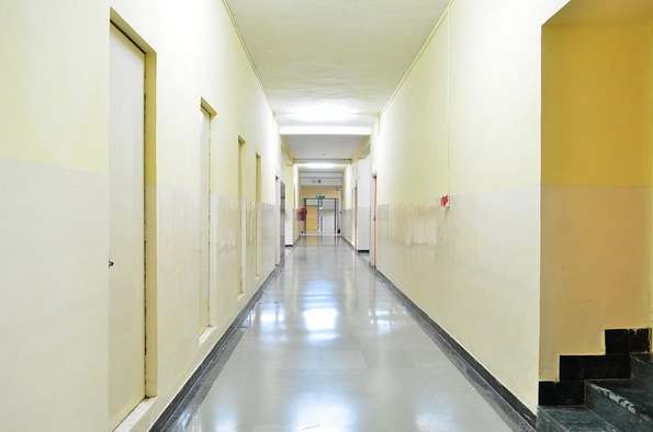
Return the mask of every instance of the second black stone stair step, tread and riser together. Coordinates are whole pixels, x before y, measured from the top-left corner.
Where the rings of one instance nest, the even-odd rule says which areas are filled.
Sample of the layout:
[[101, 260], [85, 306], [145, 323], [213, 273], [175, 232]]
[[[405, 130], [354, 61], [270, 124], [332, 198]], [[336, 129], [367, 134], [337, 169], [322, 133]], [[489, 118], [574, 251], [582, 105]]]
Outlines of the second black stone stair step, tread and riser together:
[[653, 431], [653, 391], [634, 380], [587, 383], [587, 407], [618, 429]]

